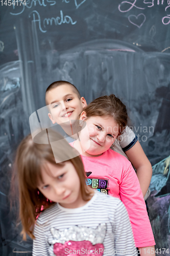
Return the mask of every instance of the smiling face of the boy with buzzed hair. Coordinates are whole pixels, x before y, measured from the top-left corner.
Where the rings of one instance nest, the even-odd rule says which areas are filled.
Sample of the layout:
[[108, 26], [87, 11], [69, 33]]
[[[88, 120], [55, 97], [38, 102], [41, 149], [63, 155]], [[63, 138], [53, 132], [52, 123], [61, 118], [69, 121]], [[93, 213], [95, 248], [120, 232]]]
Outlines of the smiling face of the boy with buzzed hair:
[[45, 95], [45, 101], [50, 108], [49, 118], [54, 123], [65, 123], [77, 120], [84, 106], [87, 105], [84, 97], [78, 97], [74, 87], [68, 84], [58, 86]]

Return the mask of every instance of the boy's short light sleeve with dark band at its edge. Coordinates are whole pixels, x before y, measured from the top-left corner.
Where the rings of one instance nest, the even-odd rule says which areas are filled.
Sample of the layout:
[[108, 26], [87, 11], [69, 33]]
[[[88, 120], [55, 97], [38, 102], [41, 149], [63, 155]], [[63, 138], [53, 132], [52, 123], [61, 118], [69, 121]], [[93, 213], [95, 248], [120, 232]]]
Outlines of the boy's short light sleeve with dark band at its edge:
[[130, 148], [134, 146], [136, 141], [137, 136], [128, 126], [126, 126], [124, 133], [119, 136], [119, 144], [122, 147], [123, 151], [126, 152], [130, 150]]

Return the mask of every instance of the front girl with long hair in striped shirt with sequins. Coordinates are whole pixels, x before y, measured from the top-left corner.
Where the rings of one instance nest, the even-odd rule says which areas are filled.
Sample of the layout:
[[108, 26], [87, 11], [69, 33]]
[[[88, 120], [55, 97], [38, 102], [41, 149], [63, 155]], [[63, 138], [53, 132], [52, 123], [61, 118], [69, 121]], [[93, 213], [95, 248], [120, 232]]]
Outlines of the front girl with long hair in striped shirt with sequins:
[[[33, 256], [65, 254], [135, 255], [124, 204], [85, 183], [81, 157], [48, 129], [28, 135], [16, 154], [23, 239], [33, 239]], [[124, 251], [124, 252], [123, 252]]]

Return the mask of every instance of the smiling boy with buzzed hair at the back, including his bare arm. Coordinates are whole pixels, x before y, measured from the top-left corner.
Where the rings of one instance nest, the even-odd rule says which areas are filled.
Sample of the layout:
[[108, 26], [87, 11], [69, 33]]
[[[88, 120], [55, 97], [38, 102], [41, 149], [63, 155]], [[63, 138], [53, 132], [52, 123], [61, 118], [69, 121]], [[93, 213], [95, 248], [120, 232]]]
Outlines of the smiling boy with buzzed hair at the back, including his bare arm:
[[[65, 134], [74, 137], [74, 123], [79, 118], [84, 106], [87, 105], [85, 98], [80, 96], [77, 88], [66, 81], [53, 82], [46, 89], [45, 102], [50, 112], [48, 117], [53, 124], [60, 124]], [[114, 151], [126, 156], [131, 161], [136, 169], [143, 197], [146, 200], [150, 194], [148, 188], [152, 177], [151, 163], [144, 154], [137, 137], [128, 126], [122, 138], [121, 141], [116, 141]]]

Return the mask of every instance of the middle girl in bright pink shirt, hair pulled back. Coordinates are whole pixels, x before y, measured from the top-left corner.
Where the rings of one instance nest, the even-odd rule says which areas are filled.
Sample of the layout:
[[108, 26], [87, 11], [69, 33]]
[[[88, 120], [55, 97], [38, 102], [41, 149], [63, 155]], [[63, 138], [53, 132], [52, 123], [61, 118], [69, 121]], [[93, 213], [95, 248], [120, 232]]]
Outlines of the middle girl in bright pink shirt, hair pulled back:
[[70, 144], [82, 156], [86, 184], [122, 200], [141, 256], [155, 255], [152, 227], [135, 170], [127, 158], [110, 149], [127, 125], [126, 106], [115, 95], [102, 96], [84, 108], [80, 120], [86, 126]]

